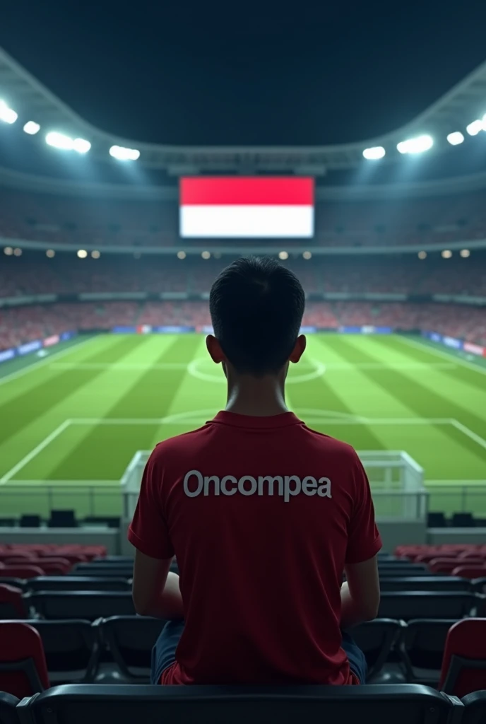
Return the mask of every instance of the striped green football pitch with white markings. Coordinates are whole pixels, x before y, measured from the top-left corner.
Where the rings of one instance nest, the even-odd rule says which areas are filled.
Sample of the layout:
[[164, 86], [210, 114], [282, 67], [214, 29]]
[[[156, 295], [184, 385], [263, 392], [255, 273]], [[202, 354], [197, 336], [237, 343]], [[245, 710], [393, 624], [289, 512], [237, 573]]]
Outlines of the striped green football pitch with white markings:
[[[0, 518], [119, 515], [135, 452], [200, 426], [226, 399], [200, 334], [78, 337], [22, 364], [0, 370]], [[431, 510], [467, 500], [469, 512], [486, 511], [481, 361], [419, 337], [313, 334], [288, 382], [289, 407], [312, 428], [417, 460]]]

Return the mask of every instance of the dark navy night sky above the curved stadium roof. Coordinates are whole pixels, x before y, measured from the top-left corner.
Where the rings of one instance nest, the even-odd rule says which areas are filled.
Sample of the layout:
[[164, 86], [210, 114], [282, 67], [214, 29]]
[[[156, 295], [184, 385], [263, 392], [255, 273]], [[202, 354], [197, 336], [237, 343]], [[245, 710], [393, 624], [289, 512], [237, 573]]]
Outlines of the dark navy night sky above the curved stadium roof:
[[19, 0], [0, 22], [0, 45], [82, 117], [184, 145], [379, 135], [484, 62], [485, 38], [479, 0]]

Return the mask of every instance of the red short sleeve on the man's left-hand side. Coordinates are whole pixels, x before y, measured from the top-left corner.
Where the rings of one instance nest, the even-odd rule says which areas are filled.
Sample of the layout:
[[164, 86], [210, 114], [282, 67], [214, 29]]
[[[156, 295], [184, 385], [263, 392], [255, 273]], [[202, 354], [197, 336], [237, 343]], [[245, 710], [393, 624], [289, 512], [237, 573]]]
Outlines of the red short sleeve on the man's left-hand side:
[[145, 466], [137, 508], [128, 529], [129, 542], [152, 558], [171, 558], [174, 555], [169, 526], [163, 514], [161, 490], [163, 467], [160, 452], [155, 450]]

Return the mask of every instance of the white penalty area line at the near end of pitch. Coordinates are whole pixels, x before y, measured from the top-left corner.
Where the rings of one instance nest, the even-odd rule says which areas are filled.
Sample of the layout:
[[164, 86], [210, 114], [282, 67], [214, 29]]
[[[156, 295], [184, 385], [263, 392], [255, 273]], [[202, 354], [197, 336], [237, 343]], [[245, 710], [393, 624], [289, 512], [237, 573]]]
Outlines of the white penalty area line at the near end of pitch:
[[[167, 417], [155, 418], [69, 418], [67, 420], [64, 420], [64, 422], [57, 426], [56, 429], [51, 432], [51, 434], [48, 434], [47, 437], [41, 440], [38, 445], [33, 447], [30, 452], [27, 452], [27, 455], [24, 455], [24, 457], [19, 460], [16, 465], [10, 468], [10, 470], [0, 478], [0, 485], [4, 485], [9, 480], [11, 480], [14, 475], [16, 475], [20, 470], [22, 470], [22, 468], [27, 465], [27, 463], [30, 463], [30, 460], [33, 460], [33, 458], [35, 458], [40, 452], [42, 452], [48, 445], [51, 445], [51, 442], [54, 442], [54, 440], [59, 437], [59, 435], [61, 435], [65, 430], [67, 430], [67, 428], [71, 425], [162, 425], [164, 423], [182, 425], [187, 425], [188, 423], [200, 424], [200, 419], [198, 421], [194, 421], [192, 420], [192, 418], [189, 418], [189, 415], [194, 415], [196, 417], [198, 412], [199, 411], [194, 411], [193, 413], [184, 413], [185, 417], [180, 415], [169, 415]], [[486, 450], [486, 439], [475, 433], [472, 429], [469, 429], [469, 427], [462, 424], [461, 422], [459, 422], [459, 420], [456, 420], [455, 418], [307, 418], [307, 422], [310, 424], [322, 424], [324, 422], [325, 424], [329, 425], [452, 425], [457, 430], [459, 430], [459, 432], [466, 435], [466, 437], [469, 437], [469, 439], [472, 439], [474, 442], [477, 443], [477, 445], [483, 447]]]

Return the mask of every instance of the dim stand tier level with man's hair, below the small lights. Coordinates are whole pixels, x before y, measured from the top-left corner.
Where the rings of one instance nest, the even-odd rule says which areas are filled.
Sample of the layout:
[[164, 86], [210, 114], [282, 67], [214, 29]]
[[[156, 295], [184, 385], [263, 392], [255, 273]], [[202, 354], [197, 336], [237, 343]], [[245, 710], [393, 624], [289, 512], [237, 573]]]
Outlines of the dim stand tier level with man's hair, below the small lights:
[[[216, 275], [231, 257], [200, 258], [111, 255], [80, 259], [65, 254], [46, 258], [27, 251], [0, 257], [0, 298], [38, 294], [90, 292], [209, 292]], [[401, 295], [456, 294], [486, 297], [486, 253], [463, 258], [427, 256], [356, 256], [289, 259], [286, 264], [301, 279], [308, 294], [393, 293]]]

